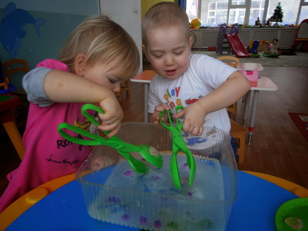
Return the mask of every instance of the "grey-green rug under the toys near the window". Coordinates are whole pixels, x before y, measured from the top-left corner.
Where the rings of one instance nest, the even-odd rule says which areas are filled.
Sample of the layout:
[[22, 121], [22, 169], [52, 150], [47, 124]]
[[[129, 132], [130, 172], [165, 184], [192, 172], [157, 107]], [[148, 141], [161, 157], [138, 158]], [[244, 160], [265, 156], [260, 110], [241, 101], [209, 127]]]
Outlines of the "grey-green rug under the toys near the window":
[[[216, 54], [215, 51], [193, 50], [196, 54], [206, 54], [217, 58], [219, 56], [230, 55], [226, 51], [223, 54]], [[259, 52], [261, 54], [261, 52]], [[296, 55], [280, 55], [278, 57], [265, 57], [261, 54], [260, 57], [245, 57], [240, 58], [242, 63], [260, 63], [262, 66], [268, 67], [308, 67], [308, 53], [295, 52]]]

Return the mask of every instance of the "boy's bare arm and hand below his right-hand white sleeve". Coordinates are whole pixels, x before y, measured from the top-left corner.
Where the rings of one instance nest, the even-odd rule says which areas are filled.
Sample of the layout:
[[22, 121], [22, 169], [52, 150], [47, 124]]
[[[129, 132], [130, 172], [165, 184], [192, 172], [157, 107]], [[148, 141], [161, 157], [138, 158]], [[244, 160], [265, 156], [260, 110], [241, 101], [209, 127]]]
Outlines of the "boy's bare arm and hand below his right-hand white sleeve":
[[241, 72], [235, 71], [213, 92], [173, 116], [180, 118], [185, 115], [183, 130], [194, 136], [200, 136], [206, 114], [232, 105], [250, 88], [251, 84], [247, 78]]

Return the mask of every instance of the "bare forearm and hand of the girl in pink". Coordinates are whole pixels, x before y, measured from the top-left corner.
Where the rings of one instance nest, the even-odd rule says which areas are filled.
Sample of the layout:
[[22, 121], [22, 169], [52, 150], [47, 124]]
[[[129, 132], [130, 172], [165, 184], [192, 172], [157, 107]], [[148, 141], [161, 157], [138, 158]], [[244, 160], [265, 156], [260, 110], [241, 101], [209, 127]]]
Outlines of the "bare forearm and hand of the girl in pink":
[[99, 129], [111, 131], [108, 137], [116, 134], [123, 119], [123, 111], [114, 93], [97, 83], [60, 70], [49, 71], [44, 82], [48, 98], [60, 103], [99, 103], [105, 111], [99, 114], [102, 125]]

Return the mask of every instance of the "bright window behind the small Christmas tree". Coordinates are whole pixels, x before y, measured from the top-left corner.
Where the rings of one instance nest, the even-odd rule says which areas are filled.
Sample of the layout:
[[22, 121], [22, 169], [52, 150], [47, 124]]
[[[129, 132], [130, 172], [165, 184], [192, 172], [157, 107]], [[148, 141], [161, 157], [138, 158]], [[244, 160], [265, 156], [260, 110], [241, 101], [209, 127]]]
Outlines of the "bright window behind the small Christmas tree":
[[[283, 11], [283, 22], [279, 24], [300, 24], [308, 18], [308, 0], [186, 0], [186, 12], [190, 20], [200, 18], [202, 26], [221, 23], [255, 25], [258, 17], [265, 23], [278, 2]], [[194, 16], [191, 18], [191, 15]]]

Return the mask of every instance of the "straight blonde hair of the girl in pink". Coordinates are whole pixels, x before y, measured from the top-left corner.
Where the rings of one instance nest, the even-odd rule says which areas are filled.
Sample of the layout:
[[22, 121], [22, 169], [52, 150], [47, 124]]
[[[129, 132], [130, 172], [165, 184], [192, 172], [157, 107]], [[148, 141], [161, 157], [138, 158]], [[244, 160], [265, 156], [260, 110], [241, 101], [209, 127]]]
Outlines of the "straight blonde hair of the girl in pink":
[[132, 77], [139, 69], [139, 50], [131, 36], [105, 15], [98, 15], [81, 23], [67, 38], [59, 60], [74, 71], [78, 54], [85, 54], [87, 65], [108, 63], [120, 57], [123, 76]]

